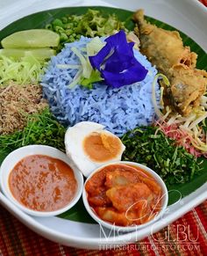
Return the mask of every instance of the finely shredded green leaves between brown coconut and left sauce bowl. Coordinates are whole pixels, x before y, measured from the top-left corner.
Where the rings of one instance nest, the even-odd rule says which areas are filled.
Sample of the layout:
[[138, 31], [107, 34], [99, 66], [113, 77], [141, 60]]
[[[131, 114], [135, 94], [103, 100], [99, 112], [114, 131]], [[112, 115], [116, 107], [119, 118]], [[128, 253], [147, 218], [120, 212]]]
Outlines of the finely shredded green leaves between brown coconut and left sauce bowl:
[[[30, 144], [52, 146], [65, 151], [64, 128], [46, 108], [41, 113], [28, 115], [27, 125], [11, 135], [0, 135], [0, 152], [5, 155], [12, 150]], [[0, 153], [0, 155], [1, 155]]]

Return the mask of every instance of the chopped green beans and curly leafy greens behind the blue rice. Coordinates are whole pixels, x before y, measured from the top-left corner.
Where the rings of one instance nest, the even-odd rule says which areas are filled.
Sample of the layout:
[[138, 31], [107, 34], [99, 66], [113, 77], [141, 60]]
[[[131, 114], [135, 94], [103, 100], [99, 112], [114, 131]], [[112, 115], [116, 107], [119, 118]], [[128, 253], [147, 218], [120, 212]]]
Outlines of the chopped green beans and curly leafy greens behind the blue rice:
[[95, 37], [110, 35], [125, 29], [125, 23], [120, 21], [116, 14], [103, 15], [100, 11], [91, 10], [82, 15], [70, 15], [56, 18], [46, 29], [53, 30], [60, 34], [61, 44], [59, 49], [64, 47], [66, 42], [80, 40], [81, 36]]

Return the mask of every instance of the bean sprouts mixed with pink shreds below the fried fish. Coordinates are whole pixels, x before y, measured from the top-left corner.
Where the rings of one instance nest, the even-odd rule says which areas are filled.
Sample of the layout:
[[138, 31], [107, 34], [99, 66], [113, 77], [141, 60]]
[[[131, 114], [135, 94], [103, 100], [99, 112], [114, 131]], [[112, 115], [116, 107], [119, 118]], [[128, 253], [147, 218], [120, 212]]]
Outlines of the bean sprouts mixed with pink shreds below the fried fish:
[[157, 74], [153, 80], [152, 100], [154, 112], [159, 118], [156, 125], [168, 137], [175, 140], [177, 145], [184, 147], [190, 154], [195, 157], [207, 157], [207, 135], [206, 123], [207, 117], [207, 98], [202, 96], [201, 105], [194, 106], [191, 113], [182, 116], [180, 113], [174, 113], [171, 106], [164, 106], [163, 93], [164, 87], [161, 86], [161, 102], [157, 105], [155, 95], [155, 85], [157, 79], [162, 79], [165, 87], [168, 87], [169, 81], [163, 74]]

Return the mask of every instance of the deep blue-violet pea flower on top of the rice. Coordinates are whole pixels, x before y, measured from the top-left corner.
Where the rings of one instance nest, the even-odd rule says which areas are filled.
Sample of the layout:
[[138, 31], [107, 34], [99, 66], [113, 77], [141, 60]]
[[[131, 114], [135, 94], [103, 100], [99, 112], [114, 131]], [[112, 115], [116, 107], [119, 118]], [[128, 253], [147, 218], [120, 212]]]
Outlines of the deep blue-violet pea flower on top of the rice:
[[89, 56], [94, 69], [101, 73], [106, 84], [119, 88], [145, 79], [147, 70], [133, 55], [133, 42], [128, 43], [125, 32], [105, 39], [106, 45], [95, 56]]

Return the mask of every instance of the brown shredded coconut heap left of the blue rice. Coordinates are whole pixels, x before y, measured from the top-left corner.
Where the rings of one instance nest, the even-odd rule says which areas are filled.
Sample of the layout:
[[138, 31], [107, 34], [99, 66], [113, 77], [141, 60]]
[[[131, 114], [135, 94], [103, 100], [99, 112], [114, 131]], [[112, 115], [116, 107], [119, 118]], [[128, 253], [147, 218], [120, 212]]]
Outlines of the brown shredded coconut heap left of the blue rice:
[[37, 113], [46, 106], [39, 84], [11, 83], [0, 88], [0, 135], [23, 129], [27, 114]]

